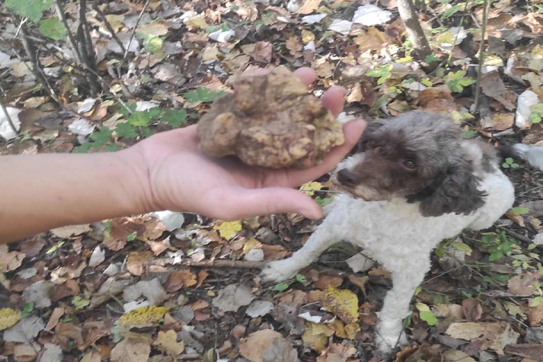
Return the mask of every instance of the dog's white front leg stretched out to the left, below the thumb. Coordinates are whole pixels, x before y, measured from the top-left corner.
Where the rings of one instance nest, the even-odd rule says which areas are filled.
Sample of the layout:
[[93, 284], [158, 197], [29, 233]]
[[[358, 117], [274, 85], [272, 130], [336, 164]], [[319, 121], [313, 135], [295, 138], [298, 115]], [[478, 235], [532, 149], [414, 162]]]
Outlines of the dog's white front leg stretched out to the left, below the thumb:
[[325, 219], [303, 247], [291, 257], [267, 264], [262, 270], [262, 279], [264, 281], [284, 281], [292, 278], [300, 269], [307, 267], [322, 252], [337, 242], [337, 238], [334, 238], [332, 223]]

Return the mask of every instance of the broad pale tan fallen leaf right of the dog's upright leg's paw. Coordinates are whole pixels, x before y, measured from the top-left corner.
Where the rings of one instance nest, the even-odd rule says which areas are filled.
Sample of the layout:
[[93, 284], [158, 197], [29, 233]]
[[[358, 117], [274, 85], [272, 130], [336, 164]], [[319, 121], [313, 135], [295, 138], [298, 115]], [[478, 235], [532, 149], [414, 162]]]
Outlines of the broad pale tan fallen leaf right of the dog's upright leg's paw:
[[479, 341], [481, 351], [491, 349], [503, 355], [503, 347], [514, 344], [520, 334], [508, 322], [455, 322], [449, 325], [447, 333], [452, 338]]

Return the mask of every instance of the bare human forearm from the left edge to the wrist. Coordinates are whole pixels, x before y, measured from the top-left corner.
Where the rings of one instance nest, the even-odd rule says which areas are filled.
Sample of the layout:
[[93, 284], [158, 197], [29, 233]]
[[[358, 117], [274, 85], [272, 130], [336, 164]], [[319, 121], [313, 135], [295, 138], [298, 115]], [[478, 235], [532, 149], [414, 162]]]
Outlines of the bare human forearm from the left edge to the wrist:
[[0, 156], [0, 243], [151, 211], [134, 153]]

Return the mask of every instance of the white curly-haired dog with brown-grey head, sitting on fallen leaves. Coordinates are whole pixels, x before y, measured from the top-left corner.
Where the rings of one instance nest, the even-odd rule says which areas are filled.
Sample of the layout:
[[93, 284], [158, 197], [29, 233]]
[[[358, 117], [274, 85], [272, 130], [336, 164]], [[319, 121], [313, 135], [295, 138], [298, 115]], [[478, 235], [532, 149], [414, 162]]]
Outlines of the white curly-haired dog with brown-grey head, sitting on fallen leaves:
[[332, 173], [340, 192], [324, 221], [291, 257], [267, 264], [262, 279], [289, 279], [341, 240], [359, 245], [392, 275], [375, 333], [388, 354], [407, 344], [403, 320], [433, 249], [462, 230], [490, 228], [513, 206], [499, 165], [494, 146], [462, 139], [447, 115], [416, 110], [370, 122]]

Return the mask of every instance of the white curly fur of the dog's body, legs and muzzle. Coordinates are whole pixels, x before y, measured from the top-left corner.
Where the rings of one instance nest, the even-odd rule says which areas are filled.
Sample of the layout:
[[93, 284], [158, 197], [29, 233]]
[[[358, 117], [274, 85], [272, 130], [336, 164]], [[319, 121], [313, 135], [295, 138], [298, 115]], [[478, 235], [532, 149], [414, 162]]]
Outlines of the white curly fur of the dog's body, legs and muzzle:
[[[445, 238], [454, 238], [465, 229], [489, 228], [514, 202], [513, 185], [498, 168], [497, 161], [491, 172], [481, 167], [482, 152], [477, 144], [462, 144], [472, 158], [479, 189], [486, 190], [485, 203], [469, 215], [443, 214], [425, 217], [419, 202], [409, 204], [403, 198], [390, 201], [366, 202], [339, 194], [327, 207], [327, 216], [303, 247], [292, 257], [274, 261], [262, 271], [264, 280], [283, 281], [307, 267], [328, 247], [341, 240], [363, 247], [364, 253], [375, 259], [392, 274], [393, 287], [385, 296], [378, 313], [375, 334], [378, 350], [388, 353], [399, 344], [405, 344], [403, 320], [409, 315], [414, 291], [430, 269], [432, 250]], [[359, 153], [338, 166], [349, 168], [360, 162]]]

